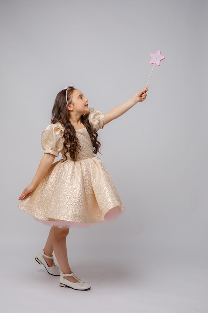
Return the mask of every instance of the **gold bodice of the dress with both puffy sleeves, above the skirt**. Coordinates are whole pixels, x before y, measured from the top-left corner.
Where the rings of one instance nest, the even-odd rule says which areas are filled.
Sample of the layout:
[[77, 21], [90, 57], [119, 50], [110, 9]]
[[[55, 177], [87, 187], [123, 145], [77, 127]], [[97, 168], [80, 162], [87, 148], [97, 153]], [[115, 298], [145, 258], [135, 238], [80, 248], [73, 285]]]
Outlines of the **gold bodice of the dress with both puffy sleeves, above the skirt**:
[[[103, 128], [104, 114], [94, 108], [90, 108], [89, 122], [96, 131]], [[58, 154], [61, 153], [63, 159], [65, 159], [63, 133], [64, 128], [61, 123], [51, 124], [43, 130], [41, 143], [45, 150], [44, 153], [53, 154], [55, 156], [58, 156]], [[93, 145], [87, 129], [83, 128], [76, 130], [76, 136], [80, 144], [77, 160], [92, 158], [94, 156]], [[68, 160], [71, 160], [69, 153], [66, 154], [66, 157]]]

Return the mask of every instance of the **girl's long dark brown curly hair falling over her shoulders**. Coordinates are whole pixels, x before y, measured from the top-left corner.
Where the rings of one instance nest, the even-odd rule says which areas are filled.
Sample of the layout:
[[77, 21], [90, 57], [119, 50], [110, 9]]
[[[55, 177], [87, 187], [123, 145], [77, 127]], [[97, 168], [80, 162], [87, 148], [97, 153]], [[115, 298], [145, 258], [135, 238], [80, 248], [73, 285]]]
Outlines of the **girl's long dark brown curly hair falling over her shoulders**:
[[[73, 161], [77, 160], [77, 156], [79, 154], [80, 150], [80, 144], [79, 140], [76, 137], [76, 130], [74, 129], [74, 126], [71, 124], [69, 120], [69, 110], [66, 107], [66, 96], [68, 100], [68, 104], [72, 101], [73, 91], [76, 90], [75, 88], [70, 88], [67, 91], [66, 90], [60, 91], [56, 98], [52, 109], [52, 118], [51, 123], [55, 124], [57, 122], [60, 122], [62, 126], [64, 127], [64, 133], [63, 133], [63, 139], [64, 139], [64, 156], [66, 157], [66, 154], [69, 152], [71, 158]], [[101, 146], [100, 142], [97, 140], [98, 134], [95, 129], [92, 128], [92, 126], [89, 123], [89, 114], [84, 114], [81, 116], [81, 122], [86, 127], [90, 139], [92, 141], [93, 145], [93, 152], [94, 154], [97, 154], [99, 152], [99, 148]]]

